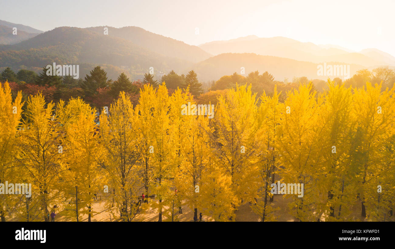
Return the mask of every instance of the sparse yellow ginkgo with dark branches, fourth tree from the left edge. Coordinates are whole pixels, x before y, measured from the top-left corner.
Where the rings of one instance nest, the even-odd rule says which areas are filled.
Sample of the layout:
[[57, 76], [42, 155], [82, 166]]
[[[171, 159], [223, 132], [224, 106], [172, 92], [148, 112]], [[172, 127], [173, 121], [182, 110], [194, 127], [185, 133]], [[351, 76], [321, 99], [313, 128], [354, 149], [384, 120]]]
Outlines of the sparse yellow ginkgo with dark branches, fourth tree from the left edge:
[[[122, 221], [131, 221], [138, 212], [141, 178], [139, 177], [138, 141], [135, 110], [128, 96], [121, 92], [108, 112], [100, 115], [100, 144], [107, 172], [106, 184], [112, 194], [107, 208]], [[115, 215], [117, 213], [117, 215]]]

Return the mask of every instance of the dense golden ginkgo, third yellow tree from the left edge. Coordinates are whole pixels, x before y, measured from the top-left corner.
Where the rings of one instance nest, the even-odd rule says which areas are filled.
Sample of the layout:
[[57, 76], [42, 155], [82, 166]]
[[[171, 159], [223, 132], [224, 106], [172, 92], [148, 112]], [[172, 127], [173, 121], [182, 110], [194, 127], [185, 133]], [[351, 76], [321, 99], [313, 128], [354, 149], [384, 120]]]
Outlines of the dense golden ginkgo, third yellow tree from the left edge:
[[[100, 172], [102, 160], [98, 144], [99, 129], [95, 122], [96, 110], [82, 99], [70, 99], [67, 105], [60, 101], [58, 119], [65, 134], [63, 190], [66, 202], [70, 202], [67, 212], [79, 220], [79, 215], [88, 215], [91, 221], [92, 204], [95, 195], [103, 189]], [[71, 209], [73, 211], [71, 211]]]

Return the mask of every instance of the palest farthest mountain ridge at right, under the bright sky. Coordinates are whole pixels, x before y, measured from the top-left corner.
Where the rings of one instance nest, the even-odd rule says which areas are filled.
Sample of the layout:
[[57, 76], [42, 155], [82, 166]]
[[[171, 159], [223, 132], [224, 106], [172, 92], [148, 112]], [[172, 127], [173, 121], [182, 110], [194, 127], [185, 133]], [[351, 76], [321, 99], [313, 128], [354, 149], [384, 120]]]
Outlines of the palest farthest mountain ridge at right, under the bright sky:
[[201, 49], [211, 54], [255, 53], [260, 55], [278, 56], [305, 62], [323, 63], [338, 61], [345, 64], [360, 64], [366, 67], [391, 65], [390, 60], [380, 56], [371, 57], [369, 54], [348, 52], [334, 45], [315, 45], [310, 42], [300, 42], [286, 37], [271, 37], [257, 39], [233, 39], [199, 45]]

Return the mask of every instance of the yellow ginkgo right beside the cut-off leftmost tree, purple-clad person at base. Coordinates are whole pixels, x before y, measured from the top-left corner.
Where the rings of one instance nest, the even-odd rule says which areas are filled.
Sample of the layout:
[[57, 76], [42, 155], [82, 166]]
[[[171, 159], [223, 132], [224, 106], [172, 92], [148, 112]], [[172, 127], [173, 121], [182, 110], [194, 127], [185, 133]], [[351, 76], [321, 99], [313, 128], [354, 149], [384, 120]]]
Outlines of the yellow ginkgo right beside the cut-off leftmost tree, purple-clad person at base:
[[52, 209], [60, 197], [58, 173], [63, 154], [62, 133], [54, 106], [52, 102], [45, 103], [41, 93], [30, 96], [21, 131], [21, 164], [28, 172], [32, 195], [37, 195], [44, 221], [49, 221], [49, 208]]

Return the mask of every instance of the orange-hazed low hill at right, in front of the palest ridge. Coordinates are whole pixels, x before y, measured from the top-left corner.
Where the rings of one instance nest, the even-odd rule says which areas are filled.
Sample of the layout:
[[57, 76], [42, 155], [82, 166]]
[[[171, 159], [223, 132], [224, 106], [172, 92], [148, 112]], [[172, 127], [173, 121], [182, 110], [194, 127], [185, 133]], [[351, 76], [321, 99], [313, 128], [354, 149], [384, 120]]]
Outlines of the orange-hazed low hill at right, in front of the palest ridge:
[[[327, 62], [327, 65], [340, 65], [340, 62]], [[211, 57], [193, 66], [201, 81], [218, 80], [223, 75], [231, 75], [234, 72], [240, 74], [241, 67], [245, 67], [245, 76], [252, 71], [258, 70], [260, 73], [268, 71], [275, 80], [292, 81], [293, 77], [306, 76], [308, 79], [322, 79], [326, 81], [338, 76], [319, 76], [317, 75], [318, 64], [312, 62], [301, 62], [288, 58], [275, 56], [263, 56], [252, 53], [225, 53]], [[350, 76], [357, 70], [363, 69], [361, 65], [350, 64]], [[187, 70], [185, 70], [187, 71]], [[343, 78], [342, 76], [339, 76]]]

